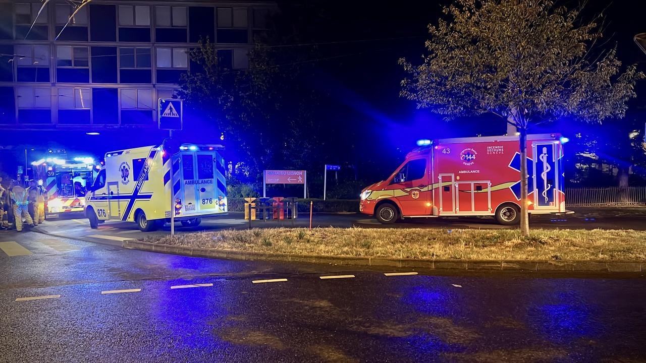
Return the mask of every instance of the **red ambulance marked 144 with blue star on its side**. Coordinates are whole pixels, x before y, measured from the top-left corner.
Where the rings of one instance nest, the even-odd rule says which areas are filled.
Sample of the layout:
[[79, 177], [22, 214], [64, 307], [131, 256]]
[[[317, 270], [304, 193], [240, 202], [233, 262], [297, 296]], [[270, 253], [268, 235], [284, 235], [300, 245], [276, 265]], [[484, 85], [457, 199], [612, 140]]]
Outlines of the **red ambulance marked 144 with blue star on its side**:
[[[518, 136], [420, 140], [390, 178], [361, 192], [361, 213], [381, 223], [403, 218], [494, 216], [520, 222]], [[565, 213], [559, 134], [527, 136], [529, 213]]]

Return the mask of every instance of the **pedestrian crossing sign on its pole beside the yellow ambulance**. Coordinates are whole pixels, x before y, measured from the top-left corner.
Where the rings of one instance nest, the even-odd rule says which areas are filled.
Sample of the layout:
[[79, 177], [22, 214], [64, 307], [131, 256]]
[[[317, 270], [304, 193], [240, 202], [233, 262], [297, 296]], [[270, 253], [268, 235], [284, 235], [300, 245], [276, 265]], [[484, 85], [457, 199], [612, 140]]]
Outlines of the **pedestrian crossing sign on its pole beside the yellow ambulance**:
[[[183, 101], [182, 99], [160, 98], [157, 100], [157, 121], [160, 130], [169, 130], [169, 138], [172, 138], [172, 130], [182, 130], [183, 127]], [[172, 144], [172, 143], [171, 143]], [[179, 150], [178, 150], [179, 151]], [[175, 235], [175, 193], [174, 180], [172, 180], [172, 156], [174, 150], [164, 150], [171, 154], [170, 172], [171, 182], [169, 189], [171, 191], [171, 236]]]

